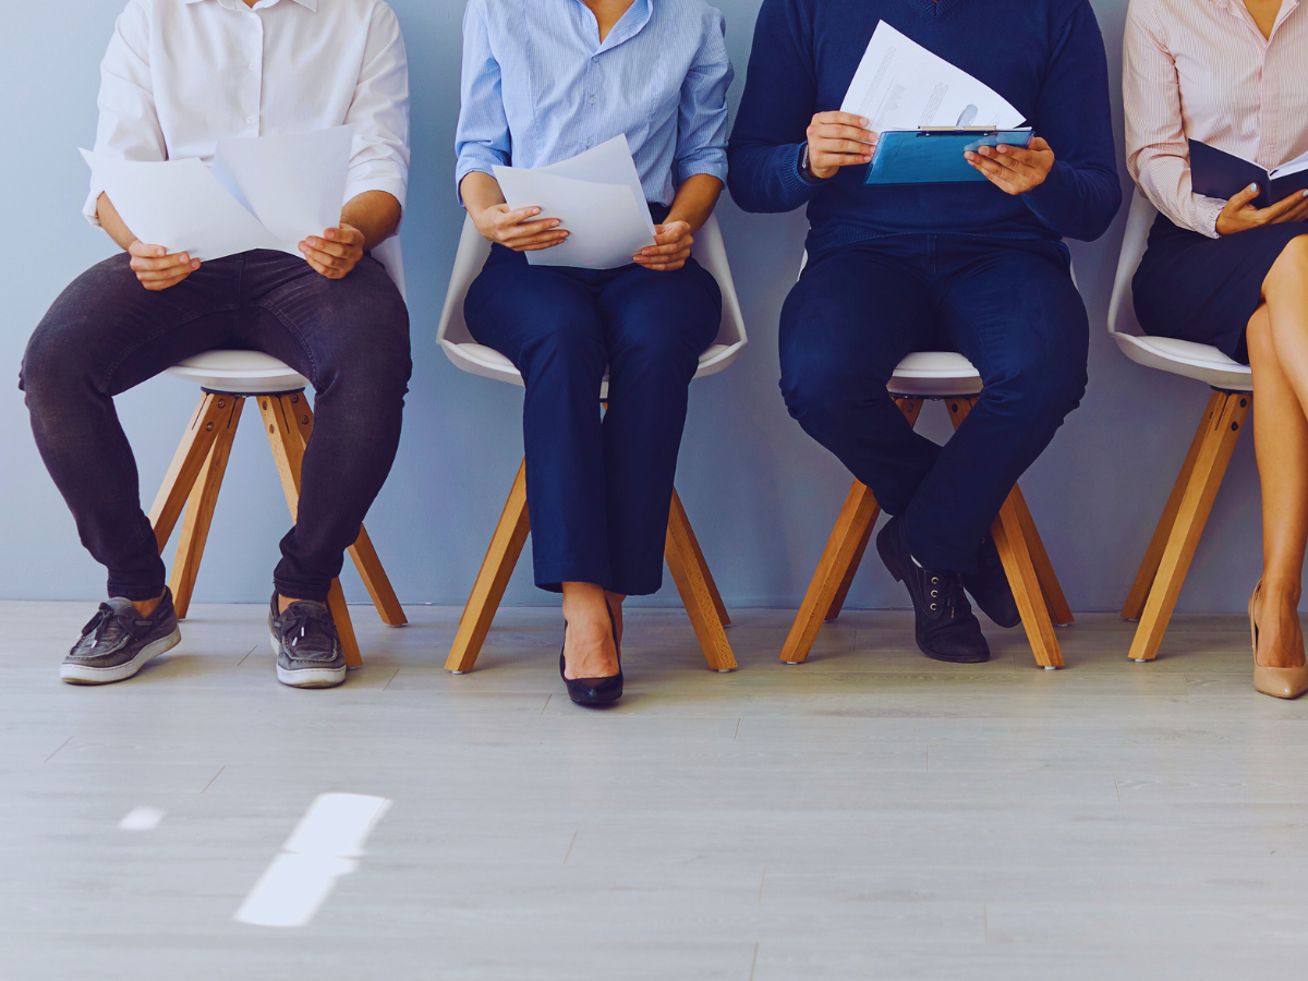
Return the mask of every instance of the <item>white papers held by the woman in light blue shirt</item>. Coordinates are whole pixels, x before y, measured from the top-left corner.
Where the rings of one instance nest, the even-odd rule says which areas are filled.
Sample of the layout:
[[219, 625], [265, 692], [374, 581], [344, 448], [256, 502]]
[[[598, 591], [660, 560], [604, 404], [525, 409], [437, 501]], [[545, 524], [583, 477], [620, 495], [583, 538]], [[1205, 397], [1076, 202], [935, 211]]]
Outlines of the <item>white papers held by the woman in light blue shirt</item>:
[[527, 252], [532, 266], [615, 269], [654, 245], [654, 222], [625, 136], [539, 170], [497, 166], [494, 175], [510, 208], [540, 208], [540, 218], [559, 218], [569, 232], [562, 245]]

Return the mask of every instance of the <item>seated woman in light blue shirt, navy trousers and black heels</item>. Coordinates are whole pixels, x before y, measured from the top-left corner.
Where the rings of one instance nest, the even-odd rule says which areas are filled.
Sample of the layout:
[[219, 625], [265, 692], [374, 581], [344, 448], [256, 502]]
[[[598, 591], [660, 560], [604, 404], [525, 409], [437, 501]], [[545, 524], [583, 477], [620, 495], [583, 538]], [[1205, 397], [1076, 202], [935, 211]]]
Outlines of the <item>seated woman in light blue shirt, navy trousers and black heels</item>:
[[[562, 593], [560, 672], [578, 704], [621, 696], [623, 599], [663, 578], [687, 386], [722, 315], [691, 245], [726, 177], [730, 84], [704, 0], [471, 0], [463, 21], [456, 181], [493, 243], [464, 318], [527, 386], [535, 578]], [[657, 245], [615, 269], [528, 264], [568, 229], [511, 211], [492, 166], [547, 166], [620, 133]]]

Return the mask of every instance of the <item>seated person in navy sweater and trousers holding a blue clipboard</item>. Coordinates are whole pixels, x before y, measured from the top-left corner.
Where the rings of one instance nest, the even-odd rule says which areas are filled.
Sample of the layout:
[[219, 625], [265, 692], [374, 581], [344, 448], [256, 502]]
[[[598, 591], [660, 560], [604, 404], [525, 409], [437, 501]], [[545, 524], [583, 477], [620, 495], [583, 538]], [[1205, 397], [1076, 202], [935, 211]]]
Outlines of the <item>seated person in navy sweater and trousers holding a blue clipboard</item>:
[[[883, 20], [1012, 103], [1031, 145], [968, 153], [985, 182], [865, 184], [876, 133], [837, 107]], [[781, 311], [790, 415], [893, 515], [878, 552], [908, 586], [921, 650], [988, 659], [964, 590], [1019, 623], [989, 528], [1086, 387], [1086, 309], [1059, 239], [1096, 238], [1121, 203], [1090, 3], [763, 0], [727, 153], [746, 211], [808, 205], [808, 262]], [[963, 353], [984, 385], [943, 447], [886, 388], [923, 349]]]

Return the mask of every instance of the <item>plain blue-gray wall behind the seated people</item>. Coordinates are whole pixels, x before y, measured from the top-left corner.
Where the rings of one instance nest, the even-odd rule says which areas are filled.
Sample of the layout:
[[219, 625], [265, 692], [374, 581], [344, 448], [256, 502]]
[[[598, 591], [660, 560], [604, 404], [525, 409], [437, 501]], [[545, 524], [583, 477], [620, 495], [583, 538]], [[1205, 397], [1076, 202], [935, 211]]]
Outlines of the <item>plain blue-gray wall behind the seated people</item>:
[[[99, 58], [123, 3], [12, 4], [0, 35], [0, 187], [8, 218], [0, 242], [7, 379], [0, 386], [0, 598], [90, 599], [103, 590], [103, 573], [80, 549], [33, 447], [14, 379], [26, 337], [50, 302], [112, 250], [78, 213], [86, 173], [76, 148], [94, 139]], [[522, 454], [522, 394], [455, 370], [433, 340], [462, 221], [450, 174], [463, 4], [391, 3], [408, 42], [413, 89], [404, 254], [416, 370], [399, 460], [368, 526], [403, 600], [453, 604], [467, 596]], [[759, 0], [719, 0], [719, 7], [738, 68], [736, 101]], [[1116, 90], [1126, 0], [1097, 0], [1095, 8]], [[804, 220], [744, 215], [729, 200], [719, 213], [751, 343], [732, 368], [692, 387], [678, 487], [727, 603], [794, 607], [850, 481], [800, 433], [777, 391], [777, 313], [798, 269]], [[1103, 239], [1073, 246], [1093, 331], [1090, 392], [1023, 480], [1078, 610], [1121, 603], [1207, 398], [1196, 382], [1130, 364], [1104, 331], [1124, 218], [1125, 209]], [[196, 396], [194, 387], [160, 378], [119, 399], [146, 505]], [[199, 599], [262, 602], [268, 595], [286, 513], [256, 419], [246, 416], [237, 439]], [[923, 432], [946, 438], [939, 405], [929, 405], [923, 419]], [[526, 559], [508, 602], [552, 602], [531, 586]], [[1181, 607], [1243, 608], [1258, 564], [1257, 476], [1245, 438]], [[366, 599], [352, 570], [347, 590], [352, 599]], [[905, 606], [905, 599], [872, 559], [849, 602], [882, 607]], [[670, 582], [653, 602], [678, 602]]]

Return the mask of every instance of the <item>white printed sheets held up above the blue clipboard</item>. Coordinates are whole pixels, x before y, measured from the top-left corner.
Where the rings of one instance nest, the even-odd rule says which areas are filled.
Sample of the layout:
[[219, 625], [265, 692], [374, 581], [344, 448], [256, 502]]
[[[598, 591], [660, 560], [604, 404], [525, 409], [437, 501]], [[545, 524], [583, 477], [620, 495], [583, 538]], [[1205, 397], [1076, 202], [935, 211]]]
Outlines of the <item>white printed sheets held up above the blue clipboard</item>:
[[872, 132], [923, 126], [1011, 129], [1023, 115], [994, 89], [931, 54], [886, 21], [876, 25], [840, 105]]

